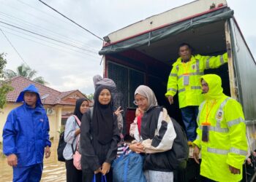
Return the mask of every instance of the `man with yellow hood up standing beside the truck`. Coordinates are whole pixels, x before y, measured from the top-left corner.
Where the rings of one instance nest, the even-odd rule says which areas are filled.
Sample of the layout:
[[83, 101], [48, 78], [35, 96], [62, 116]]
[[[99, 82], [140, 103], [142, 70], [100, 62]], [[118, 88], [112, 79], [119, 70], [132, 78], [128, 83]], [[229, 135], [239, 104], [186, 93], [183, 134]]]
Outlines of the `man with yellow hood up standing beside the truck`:
[[241, 104], [222, 91], [216, 74], [201, 76], [204, 98], [197, 116], [193, 157], [206, 181], [241, 181], [247, 154], [246, 125]]

